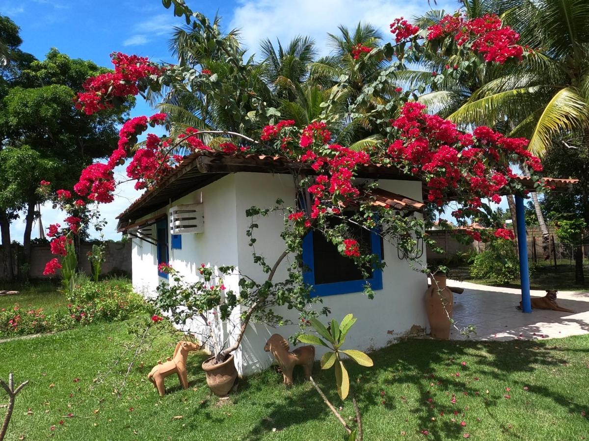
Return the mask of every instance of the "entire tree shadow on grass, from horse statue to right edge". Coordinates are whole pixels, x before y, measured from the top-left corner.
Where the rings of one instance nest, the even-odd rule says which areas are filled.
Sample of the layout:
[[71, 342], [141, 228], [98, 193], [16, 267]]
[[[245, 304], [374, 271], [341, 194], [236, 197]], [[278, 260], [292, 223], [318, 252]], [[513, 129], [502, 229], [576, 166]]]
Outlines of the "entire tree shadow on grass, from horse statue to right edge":
[[[580, 412], [583, 404], [574, 402], [569, 396], [558, 392], [550, 386], [528, 385], [525, 380], [514, 379], [518, 373], [532, 373], [536, 369], [547, 370], [557, 368], [567, 363], [566, 354], [558, 347], [552, 347], [554, 341], [512, 340], [510, 342], [440, 342], [435, 340], [409, 340], [397, 345], [389, 346], [370, 354], [375, 366], [370, 369], [362, 368], [354, 363], [347, 363], [350, 382], [363, 415], [368, 415], [376, 407], [385, 407], [388, 412], [406, 412], [417, 421], [418, 429], [428, 430], [428, 439], [459, 439], [468, 432], [460, 425], [461, 420], [474, 420], [474, 416], [495, 420], [498, 430], [509, 432], [514, 439], [521, 438], [512, 427], [501, 422], [505, 413], [505, 403], [510, 393], [530, 393], [529, 400], [534, 395], [547, 397], [567, 412]], [[474, 358], [474, 361], [473, 361]], [[467, 366], [461, 365], [461, 360], [468, 359]], [[335, 394], [332, 372], [322, 372], [315, 366], [315, 380], [326, 392], [332, 403], [339, 402]], [[458, 375], [456, 375], [458, 374]], [[267, 433], [276, 428], [277, 431], [309, 420], [329, 420], [333, 417], [323, 403], [321, 397], [312, 386], [296, 386], [286, 393], [281, 389], [282, 376], [276, 372], [264, 373], [276, 381], [276, 397], [264, 400], [256, 394], [269, 387], [267, 382], [251, 382], [245, 380], [241, 393], [235, 399], [236, 405], [240, 401], [258, 400], [266, 410], [266, 416], [250, 430], [243, 439], [257, 441], [263, 439]], [[274, 378], [275, 377], [275, 378]], [[481, 377], [481, 378], [479, 378]], [[517, 375], [516, 375], [517, 378]], [[509, 379], [509, 383], [507, 382]], [[501, 386], [499, 390], [489, 391], [485, 385], [489, 380], [509, 385], [514, 392], [506, 392]], [[300, 379], [299, 379], [300, 382]], [[411, 396], [391, 395], [391, 390], [399, 389], [402, 385], [414, 386]], [[524, 387], [530, 386], [529, 392]], [[415, 390], [416, 389], [416, 390]], [[383, 390], [388, 390], [385, 396]], [[516, 392], [517, 391], [517, 392]], [[482, 415], [469, 413], [468, 400], [465, 396], [476, 396], [480, 399], [484, 409]], [[521, 395], [519, 395], [521, 397]], [[453, 402], [455, 400], [455, 402]], [[383, 403], [384, 401], [384, 403]], [[472, 401], [471, 401], [472, 403]], [[255, 401], [254, 401], [254, 404]], [[515, 403], [514, 403], [515, 405]], [[524, 410], [521, 409], [523, 412]], [[481, 406], [478, 411], [481, 412]], [[514, 412], [517, 412], [514, 409]], [[454, 421], [452, 421], [454, 419]], [[337, 422], [336, 422], [337, 423]], [[365, 420], [366, 423], [366, 420]], [[335, 427], [335, 426], [334, 426]], [[472, 426], [470, 426], [472, 427]], [[335, 429], [337, 430], [337, 429]], [[341, 429], [343, 433], [343, 428]], [[379, 439], [372, 434], [372, 439]], [[334, 439], [339, 433], [334, 433]], [[367, 439], [370, 439], [366, 435]]]

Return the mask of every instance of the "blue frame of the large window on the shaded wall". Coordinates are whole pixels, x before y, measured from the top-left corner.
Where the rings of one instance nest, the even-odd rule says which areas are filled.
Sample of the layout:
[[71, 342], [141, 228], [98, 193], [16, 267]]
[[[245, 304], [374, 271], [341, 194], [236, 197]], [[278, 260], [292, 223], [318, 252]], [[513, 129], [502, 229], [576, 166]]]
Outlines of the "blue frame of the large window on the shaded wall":
[[[372, 286], [373, 290], [382, 289], [382, 270], [380, 269], [373, 269], [372, 277], [369, 279], [359, 278], [357, 280], [346, 279], [342, 281], [336, 281], [333, 279], [333, 277], [325, 278], [325, 276], [319, 276], [316, 274], [317, 267], [322, 264], [321, 262], [318, 262], [317, 259], [321, 259], [322, 256], [325, 259], [326, 253], [321, 255], [320, 253], [316, 252], [315, 248], [318, 242], [317, 238], [314, 240], [314, 234], [319, 235], [320, 233], [310, 231], [307, 233], [305, 238], [303, 238], [303, 265], [305, 265], [307, 269], [303, 272], [303, 281], [308, 285], [313, 286], [311, 290], [311, 297], [333, 296], [338, 294], [348, 294], [350, 292], [362, 292], [366, 282], [370, 283], [370, 286]], [[322, 240], [326, 242], [325, 239]], [[369, 233], [369, 240], [372, 253], [382, 258], [382, 243], [380, 241], [380, 236], [373, 230]], [[337, 249], [335, 245], [331, 243], [329, 243], [329, 245], [332, 246], [333, 250], [327, 249], [327, 253], [332, 253], [333, 256], [333, 253], [337, 253]], [[337, 259], [346, 258], [339, 255], [337, 256]], [[344, 265], [346, 264], [345, 260], [339, 260], [339, 263], [343, 263]], [[331, 265], [333, 264], [334, 263], [331, 262]], [[337, 263], [335, 265], [337, 265]], [[356, 271], [359, 272], [359, 270]], [[329, 281], [326, 283], [316, 283], [317, 278], [323, 278], [324, 280], [329, 279]]]

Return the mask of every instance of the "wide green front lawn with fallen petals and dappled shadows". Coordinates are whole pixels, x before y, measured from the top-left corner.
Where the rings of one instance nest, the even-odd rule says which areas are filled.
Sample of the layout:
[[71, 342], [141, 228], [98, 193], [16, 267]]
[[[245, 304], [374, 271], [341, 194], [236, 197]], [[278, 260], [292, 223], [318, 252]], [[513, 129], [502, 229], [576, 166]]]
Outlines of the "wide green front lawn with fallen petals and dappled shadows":
[[[140, 355], [143, 368], [138, 364], [131, 371], [117, 398], [114, 390], [121, 387], [130, 355], [103, 383], [94, 379], [112, 367], [130, 340], [128, 326], [95, 324], [0, 343], [0, 377], [15, 372], [16, 382], [30, 380], [17, 397], [7, 439], [340, 439], [342, 428], [312, 386], [299, 379], [285, 389], [275, 369], [241, 380], [230, 402], [220, 405], [200, 369], [204, 355], [191, 355], [191, 388], [179, 389], [177, 378], [169, 377], [169, 393], [160, 398], [145, 376], [173, 353], [173, 339], [164, 334]], [[581, 415], [589, 414], [589, 336], [541, 342], [409, 340], [372, 358], [374, 368], [350, 365], [366, 440], [454, 440], [465, 433], [481, 440], [589, 437], [589, 420]], [[315, 377], [332, 402], [343, 406], [345, 418], [352, 416], [350, 402], [340, 402], [333, 392], [332, 372], [316, 366]]]

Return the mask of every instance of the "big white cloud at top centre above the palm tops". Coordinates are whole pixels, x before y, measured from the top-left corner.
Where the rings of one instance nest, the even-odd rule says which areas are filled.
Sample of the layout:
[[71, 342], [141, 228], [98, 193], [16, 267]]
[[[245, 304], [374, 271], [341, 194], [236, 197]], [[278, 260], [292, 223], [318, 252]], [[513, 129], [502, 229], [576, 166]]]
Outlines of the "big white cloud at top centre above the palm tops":
[[[442, 6], [438, 4], [436, 8]], [[338, 25], [352, 28], [358, 22], [368, 22], [378, 27], [386, 38], [393, 19], [400, 16], [409, 19], [426, 9], [426, 2], [403, 0], [299, 0], [296, 3], [242, 0], [229, 28], [241, 29], [241, 38], [250, 52], [259, 52], [259, 42], [265, 38], [273, 42], [279, 38], [285, 44], [297, 35], [309, 35], [322, 49], [322, 55], [326, 55], [327, 32], [338, 34]]]

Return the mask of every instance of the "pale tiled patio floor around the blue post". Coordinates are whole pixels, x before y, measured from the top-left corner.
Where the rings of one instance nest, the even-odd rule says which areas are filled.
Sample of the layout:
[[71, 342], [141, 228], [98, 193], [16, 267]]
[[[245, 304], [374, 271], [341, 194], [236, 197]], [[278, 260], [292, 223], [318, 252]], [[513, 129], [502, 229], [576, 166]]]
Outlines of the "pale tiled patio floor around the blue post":
[[[464, 293], [454, 295], [454, 319], [458, 328], [476, 327], [477, 334], [471, 334], [471, 340], [560, 338], [589, 333], [589, 292], [558, 292], [558, 305], [575, 313], [534, 309], [526, 314], [516, 309], [521, 300], [521, 290], [517, 288], [456, 280], [448, 280], [448, 285], [464, 288]], [[531, 291], [532, 298], [545, 294], [539, 290]], [[467, 339], [455, 329], [450, 338]]]

